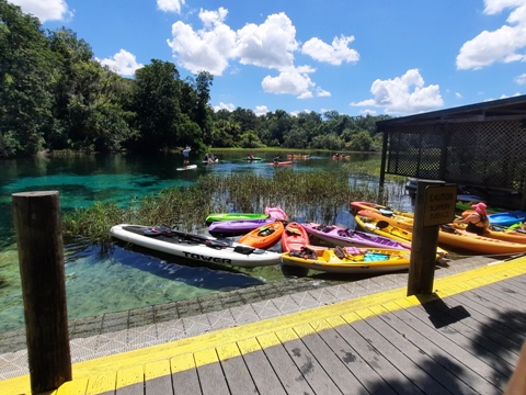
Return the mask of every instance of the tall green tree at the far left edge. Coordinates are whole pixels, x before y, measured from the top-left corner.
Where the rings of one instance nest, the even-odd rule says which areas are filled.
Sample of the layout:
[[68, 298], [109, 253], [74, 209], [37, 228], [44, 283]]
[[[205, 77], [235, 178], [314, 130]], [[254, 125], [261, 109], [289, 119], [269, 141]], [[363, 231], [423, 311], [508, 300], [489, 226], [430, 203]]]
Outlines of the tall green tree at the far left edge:
[[0, 156], [34, 155], [52, 123], [52, 56], [38, 19], [0, 0]]

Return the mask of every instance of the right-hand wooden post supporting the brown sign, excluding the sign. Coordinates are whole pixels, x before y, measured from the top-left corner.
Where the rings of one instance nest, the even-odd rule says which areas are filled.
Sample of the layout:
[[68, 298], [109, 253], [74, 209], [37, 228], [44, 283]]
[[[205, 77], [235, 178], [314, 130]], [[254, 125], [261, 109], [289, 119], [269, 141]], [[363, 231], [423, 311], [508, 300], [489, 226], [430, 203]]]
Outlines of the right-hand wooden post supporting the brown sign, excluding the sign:
[[442, 181], [419, 180], [414, 205], [413, 238], [409, 266], [408, 296], [433, 293], [438, 226], [424, 226], [425, 189]]

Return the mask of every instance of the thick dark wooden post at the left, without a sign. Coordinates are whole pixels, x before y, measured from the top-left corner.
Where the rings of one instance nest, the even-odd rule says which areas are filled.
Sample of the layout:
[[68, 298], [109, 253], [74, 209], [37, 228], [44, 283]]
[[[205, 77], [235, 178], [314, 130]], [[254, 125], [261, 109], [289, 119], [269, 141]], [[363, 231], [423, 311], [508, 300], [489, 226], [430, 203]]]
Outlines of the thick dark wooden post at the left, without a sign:
[[64, 245], [57, 191], [13, 193], [33, 393], [71, 380]]

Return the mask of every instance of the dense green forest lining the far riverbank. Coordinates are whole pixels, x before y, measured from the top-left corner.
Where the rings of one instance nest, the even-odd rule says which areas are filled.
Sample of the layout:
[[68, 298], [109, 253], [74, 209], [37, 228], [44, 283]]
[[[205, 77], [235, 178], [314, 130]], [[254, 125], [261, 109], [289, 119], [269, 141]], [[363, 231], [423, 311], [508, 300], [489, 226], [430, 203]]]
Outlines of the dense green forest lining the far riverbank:
[[336, 111], [256, 115], [214, 111], [214, 76], [181, 79], [170, 61], [151, 59], [123, 78], [95, 58], [71, 30], [0, 0], [0, 158], [38, 153], [134, 154], [207, 147], [371, 151], [381, 147], [379, 116]]

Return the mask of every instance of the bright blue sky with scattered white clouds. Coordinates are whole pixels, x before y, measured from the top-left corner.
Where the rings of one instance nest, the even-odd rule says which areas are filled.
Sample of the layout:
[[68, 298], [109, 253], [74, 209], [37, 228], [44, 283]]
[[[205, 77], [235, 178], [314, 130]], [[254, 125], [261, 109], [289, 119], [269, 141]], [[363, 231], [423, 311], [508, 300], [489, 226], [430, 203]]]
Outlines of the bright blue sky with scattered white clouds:
[[214, 109], [411, 115], [525, 93], [526, 0], [8, 0], [125, 77], [214, 75]]

